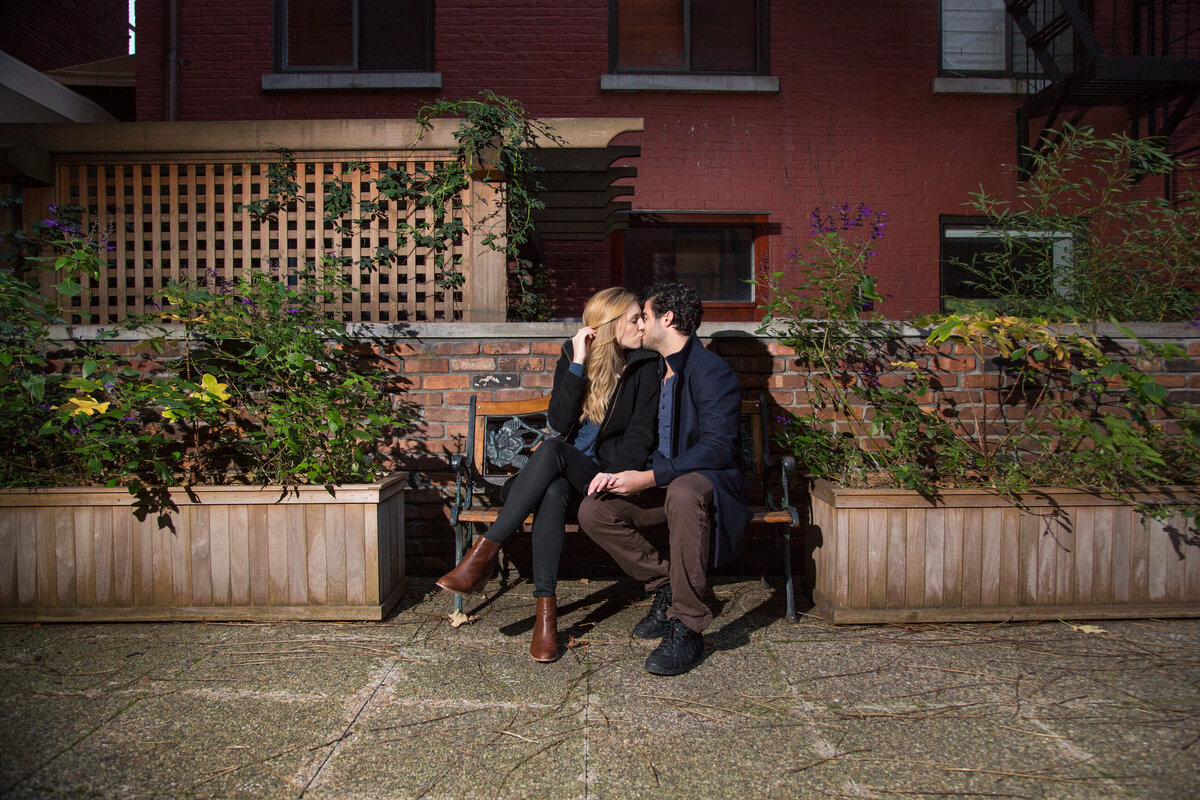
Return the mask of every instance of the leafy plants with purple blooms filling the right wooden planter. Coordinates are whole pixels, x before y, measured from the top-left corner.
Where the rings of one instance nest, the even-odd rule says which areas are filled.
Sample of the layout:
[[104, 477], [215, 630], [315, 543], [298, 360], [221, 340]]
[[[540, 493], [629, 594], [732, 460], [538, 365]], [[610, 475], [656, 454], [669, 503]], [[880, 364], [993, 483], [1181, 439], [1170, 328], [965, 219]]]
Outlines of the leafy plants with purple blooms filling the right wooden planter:
[[[992, 307], [922, 318], [917, 337], [864, 311], [884, 299], [866, 271], [874, 242], [858, 233], [818, 229], [794, 255], [794, 283], [758, 281], [763, 329], [808, 371], [810, 407], [784, 420], [781, 443], [810, 475], [931, 497], [1200, 482], [1200, 414], [1141, 367], [1177, 348], [1121, 329], [1135, 351], [1114, 353], [1081, 326]], [[980, 365], [978, 383], [943, 385], [943, 359]]]

